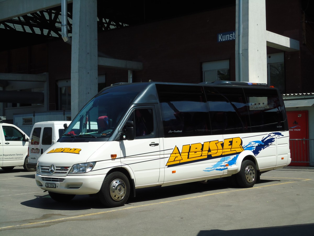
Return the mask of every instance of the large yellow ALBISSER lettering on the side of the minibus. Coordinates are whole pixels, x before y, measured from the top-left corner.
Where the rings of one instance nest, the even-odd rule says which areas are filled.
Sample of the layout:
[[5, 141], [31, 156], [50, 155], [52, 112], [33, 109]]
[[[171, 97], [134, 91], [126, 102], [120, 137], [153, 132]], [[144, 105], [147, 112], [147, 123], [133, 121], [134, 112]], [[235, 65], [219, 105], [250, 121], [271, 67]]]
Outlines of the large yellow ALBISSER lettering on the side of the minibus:
[[183, 145], [181, 152], [177, 146], [173, 149], [166, 166], [180, 165], [184, 162], [214, 159], [222, 156], [236, 155], [244, 151], [242, 139], [227, 138], [224, 141], [214, 140], [205, 143]]

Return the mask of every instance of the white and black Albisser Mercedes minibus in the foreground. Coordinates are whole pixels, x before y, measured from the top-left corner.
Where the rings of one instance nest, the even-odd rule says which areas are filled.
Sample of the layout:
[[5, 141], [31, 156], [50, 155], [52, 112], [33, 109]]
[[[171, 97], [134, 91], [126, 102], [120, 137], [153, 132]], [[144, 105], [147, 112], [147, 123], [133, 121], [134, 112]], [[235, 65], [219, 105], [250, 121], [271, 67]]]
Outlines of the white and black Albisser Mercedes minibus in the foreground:
[[97, 194], [116, 207], [151, 186], [230, 177], [250, 188], [260, 174], [290, 162], [276, 88], [124, 83], [104, 88], [82, 108], [39, 158], [35, 181], [56, 201]]

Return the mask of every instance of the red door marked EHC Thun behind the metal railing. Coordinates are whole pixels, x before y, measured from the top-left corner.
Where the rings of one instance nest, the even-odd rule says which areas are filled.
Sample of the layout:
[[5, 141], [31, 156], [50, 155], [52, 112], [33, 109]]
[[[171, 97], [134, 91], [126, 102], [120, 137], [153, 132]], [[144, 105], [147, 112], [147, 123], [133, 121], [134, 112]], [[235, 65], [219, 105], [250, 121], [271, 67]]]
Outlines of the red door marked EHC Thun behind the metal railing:
[[309, 166], [309, 129], [307, 111], [287, 111], [287, 116], [291, 153], [291, 164], [289, 166]]

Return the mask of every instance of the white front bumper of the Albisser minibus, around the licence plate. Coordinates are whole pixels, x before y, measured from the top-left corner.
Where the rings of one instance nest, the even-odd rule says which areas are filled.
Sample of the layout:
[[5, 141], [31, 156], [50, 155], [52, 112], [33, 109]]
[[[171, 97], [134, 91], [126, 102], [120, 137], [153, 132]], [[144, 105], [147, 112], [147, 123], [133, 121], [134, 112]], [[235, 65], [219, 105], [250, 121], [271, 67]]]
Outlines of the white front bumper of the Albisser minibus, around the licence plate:
[[[60, 194], [95, 194], [98, 193], [106, 174], [79, 176], [46, 176], [36, 173], [35, 180], [39, 188]], [[46, 183], [56, 184], [56, 188], [46, 188]]]

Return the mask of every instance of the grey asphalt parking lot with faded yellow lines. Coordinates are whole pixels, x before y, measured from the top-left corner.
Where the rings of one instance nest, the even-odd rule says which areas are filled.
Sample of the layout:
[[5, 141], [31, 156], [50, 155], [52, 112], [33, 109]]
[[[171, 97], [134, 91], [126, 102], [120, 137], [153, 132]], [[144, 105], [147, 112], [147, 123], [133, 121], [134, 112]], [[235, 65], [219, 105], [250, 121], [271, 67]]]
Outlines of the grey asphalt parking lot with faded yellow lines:
[[253, 188], [224, 179], [137, 189], [106, 208], [96, 196], [52, 200], [23, 167], [0, 169], [0, 235], [312, 235], [314, 168], [264, 173]]

